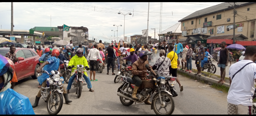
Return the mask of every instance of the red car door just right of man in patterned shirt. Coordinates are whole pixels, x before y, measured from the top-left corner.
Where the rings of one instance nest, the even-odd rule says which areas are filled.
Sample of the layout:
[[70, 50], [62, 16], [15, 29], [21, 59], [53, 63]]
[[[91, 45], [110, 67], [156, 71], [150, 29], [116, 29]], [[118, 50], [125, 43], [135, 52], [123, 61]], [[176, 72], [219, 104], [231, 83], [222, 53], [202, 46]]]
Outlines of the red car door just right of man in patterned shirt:
[[27, 61], [26, 61], [26, 57], [23, 53], [22, 50], [19, 50], [16, 52], [16, 57], [22, 57], [24, 58], [24, 60], [21, 60], [17, 63], [15, 63], [15, 72], [16, 72], [16, 76], [17, 76], [17, 79], [20, 80], [20, 79], [23, 79], [26, 75], [26, 70], [27, 68], [29, 67], [29, 65], [27, 65]]

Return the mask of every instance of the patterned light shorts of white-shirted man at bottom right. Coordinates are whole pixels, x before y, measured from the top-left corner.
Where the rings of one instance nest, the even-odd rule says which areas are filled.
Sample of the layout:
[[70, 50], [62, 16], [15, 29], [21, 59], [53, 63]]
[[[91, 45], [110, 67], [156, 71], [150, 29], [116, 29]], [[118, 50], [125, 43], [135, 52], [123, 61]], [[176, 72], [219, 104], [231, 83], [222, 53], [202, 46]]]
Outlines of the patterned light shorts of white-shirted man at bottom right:
[[228, 103], [228, 115], [252, 115], [252, 106], [234, 105]]

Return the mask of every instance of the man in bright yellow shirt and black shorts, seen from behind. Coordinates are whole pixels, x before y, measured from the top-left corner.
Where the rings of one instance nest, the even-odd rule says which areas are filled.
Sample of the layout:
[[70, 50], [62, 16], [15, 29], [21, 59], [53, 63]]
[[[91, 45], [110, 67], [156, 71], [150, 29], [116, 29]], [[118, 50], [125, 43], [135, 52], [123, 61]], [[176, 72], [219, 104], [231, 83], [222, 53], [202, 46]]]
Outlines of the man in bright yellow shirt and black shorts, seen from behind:
[[171, 67], [169, 67], [169, 75], [172, 74], [173, 77], [176, 77], [177, 83], [179, 84], [180, 91], [183, 91], [183, 85], [180, 84], [179, 78], [177, 77], [177, 60], [178, 56], [177, 53], [173, 51], [174, 46], [169, 46], [170, 53], [167, 54], [167, 58], [171, 60]]

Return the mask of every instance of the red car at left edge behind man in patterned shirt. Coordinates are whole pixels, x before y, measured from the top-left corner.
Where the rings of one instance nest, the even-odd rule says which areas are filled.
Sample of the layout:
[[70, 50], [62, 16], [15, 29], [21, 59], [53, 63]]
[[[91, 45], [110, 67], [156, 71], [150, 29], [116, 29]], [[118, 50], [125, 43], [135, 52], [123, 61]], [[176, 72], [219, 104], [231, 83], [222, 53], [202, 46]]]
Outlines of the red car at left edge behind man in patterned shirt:
[[[0, 48], [0, 54], [5, 56], [10, 51], [10, 48]], [[38, 73], [36, 72], [40, 66], [39, 56], [33, 49], [16, 48], [16, 57], [19, 62], [15, 63], [15, 72], [18, 81], [29, 76], [37, 79]]]

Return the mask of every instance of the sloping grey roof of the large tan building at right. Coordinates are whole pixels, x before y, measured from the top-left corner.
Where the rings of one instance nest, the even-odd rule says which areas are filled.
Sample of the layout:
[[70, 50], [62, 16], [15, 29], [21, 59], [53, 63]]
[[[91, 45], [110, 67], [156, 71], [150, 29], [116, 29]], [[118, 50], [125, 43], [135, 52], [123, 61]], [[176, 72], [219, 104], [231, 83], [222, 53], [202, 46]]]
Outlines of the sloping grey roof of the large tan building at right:
[[[236, 5], [245, 5], [245, 4], [252, 4], [252, 3], [255, 3], [255, 2], [236, 2], [235, 4]], [[202, 9], [202, 10], [198, 10], [198, 11], [195, 11], [194, 13], [184, 17], [183, 19], [179, 20], [179, 22], [184, 21], [184, 20], [188, 20], [188, 19], [192, 19], [192, 18], [195, 18], [195, 17], [201, 17], [203, 15], [212, 14], [213, 12], [217, 12], [217, 11], [233, 9], [232, 7], [228, 8], [228, 6], [231, 6], [233, 4], [234, 4], [234, 2], [224, 2], [224, 3], [221, 3], [221, 4], [215, 5], [215, 6], [211, 6], [211, 7]]]

